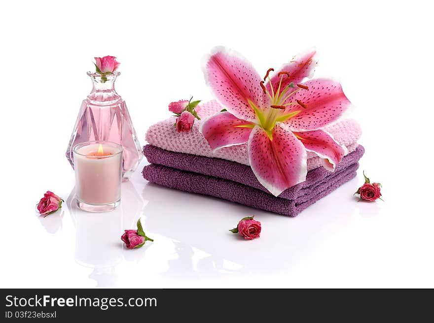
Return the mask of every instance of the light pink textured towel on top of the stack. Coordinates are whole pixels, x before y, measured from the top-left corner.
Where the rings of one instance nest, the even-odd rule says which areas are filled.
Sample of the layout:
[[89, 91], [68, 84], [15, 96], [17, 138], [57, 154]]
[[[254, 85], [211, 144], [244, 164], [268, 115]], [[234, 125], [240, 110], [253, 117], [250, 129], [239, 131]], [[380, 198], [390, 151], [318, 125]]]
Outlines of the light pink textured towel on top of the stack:
[[[146, 141], [158, 148], [197, 156], [221, 158], [232, 162], [249, 165], [247, 144], [221, 148], [213, 152], [204, 136], [199, 132], [203, 119], [221, 111], [223, 107], [212, 100], [201, 104], [198, 115], [202, 120], [195, 120], [193, 128], [187, 132], [178, 132], [173, 126], [175, 117], [160, 121], [152, 125], [146, 132]], [[353, 119], [345, 119], [331, 126], [325, 127], [334, 139], [348, 149], [348, 153], [356, 150], [357, 140], [362, 134], [359, 124]], [[321, 160], [315, 153], [308, 152], [308, 171], [321, 166]]]

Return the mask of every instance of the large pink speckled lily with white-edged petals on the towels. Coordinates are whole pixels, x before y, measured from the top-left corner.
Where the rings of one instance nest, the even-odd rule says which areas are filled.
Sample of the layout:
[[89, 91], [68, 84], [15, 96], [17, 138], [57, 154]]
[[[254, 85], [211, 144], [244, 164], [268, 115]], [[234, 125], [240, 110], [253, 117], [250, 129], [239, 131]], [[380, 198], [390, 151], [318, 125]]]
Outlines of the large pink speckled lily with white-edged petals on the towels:
[[238, 53], [217, 47], [204, 66], [205, 79], [227, 111], [200, 126], [211, 148], [248, 143], [249, 161], [258, 181], [278, 196], [306, 180], [307, 151], [333, 171], [347, 154], [330, 133], [322, 130], [339, 119], [351, 104], [341, 85], [311, 79], [317, 64], [315, 50], [297, 55], [262, 80]]

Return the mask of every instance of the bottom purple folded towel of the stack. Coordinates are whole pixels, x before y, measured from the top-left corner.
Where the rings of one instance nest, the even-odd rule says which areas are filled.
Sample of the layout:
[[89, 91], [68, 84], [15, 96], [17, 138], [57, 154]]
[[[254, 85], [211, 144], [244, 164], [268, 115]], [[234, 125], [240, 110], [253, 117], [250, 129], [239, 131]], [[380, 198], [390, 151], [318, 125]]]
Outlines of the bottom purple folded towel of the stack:
[[359, 163], [356, 162], [340, 172], [330, 173], [328, 178], [315, 185], [309, 194], [295, 200], [275, 197], [253, 187], [226, 179], [157, 164], [146, 165], [143, 169], [143, 177], [150, 182], [172, 189], [215, 196], [257, 209], [295, 217], [309, 205], [356, 177], [358, 167]]

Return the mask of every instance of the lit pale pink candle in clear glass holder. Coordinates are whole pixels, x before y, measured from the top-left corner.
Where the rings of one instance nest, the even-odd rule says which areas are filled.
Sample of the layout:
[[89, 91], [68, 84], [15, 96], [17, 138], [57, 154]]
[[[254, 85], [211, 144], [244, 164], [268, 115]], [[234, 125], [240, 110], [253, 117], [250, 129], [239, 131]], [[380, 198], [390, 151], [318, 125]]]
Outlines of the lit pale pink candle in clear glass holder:
[[119, 206], [122, 146], [87, 141], [73, 148], [77, 206], [88, 212], [109, 212]]

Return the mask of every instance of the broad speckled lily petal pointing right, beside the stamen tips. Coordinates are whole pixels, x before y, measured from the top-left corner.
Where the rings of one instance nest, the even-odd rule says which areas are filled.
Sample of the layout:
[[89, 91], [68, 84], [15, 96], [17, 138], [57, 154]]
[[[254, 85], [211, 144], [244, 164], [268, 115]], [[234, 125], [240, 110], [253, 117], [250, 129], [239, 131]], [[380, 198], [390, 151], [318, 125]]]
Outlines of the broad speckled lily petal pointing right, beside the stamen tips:
[[339, 82], [313, 79], [303, 85], [308, 86], [309, 89], [300, 90], [287, 100], [287, 103], [297, 103], [298, 100], [304, 105], [289, 105], [285, 111], [285, 113], [300, 111], [285, 122], [291, 130], [308, 131], [323, 128], [338, 120], [351, 104]]

